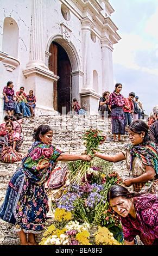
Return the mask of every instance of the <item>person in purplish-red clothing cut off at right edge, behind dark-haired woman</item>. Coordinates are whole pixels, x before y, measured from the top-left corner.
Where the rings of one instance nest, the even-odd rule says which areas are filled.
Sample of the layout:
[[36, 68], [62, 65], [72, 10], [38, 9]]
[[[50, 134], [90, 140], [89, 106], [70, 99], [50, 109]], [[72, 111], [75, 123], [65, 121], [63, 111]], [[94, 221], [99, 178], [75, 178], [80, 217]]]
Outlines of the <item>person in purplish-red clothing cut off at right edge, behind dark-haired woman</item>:
[[155, 144], [158, 146], [158, 105], [153, 108], [153, 114], [156, 122], [149, 127], [150, 136], [154, 139]]

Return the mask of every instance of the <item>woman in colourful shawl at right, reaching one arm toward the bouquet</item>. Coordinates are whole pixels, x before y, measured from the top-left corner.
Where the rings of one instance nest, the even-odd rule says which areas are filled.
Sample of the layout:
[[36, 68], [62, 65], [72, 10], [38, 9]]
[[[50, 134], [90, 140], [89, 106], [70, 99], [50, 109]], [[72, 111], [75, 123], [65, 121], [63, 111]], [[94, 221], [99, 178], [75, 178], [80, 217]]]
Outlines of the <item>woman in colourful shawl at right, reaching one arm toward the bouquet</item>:
[[110, 162], [126, 160], [130, 178], [123, 184], [133, 186], [134, 192], [158, 193], [157, 164], [158, 155], [148, 126], [142, 120], [133, 121], [129, 127], [131, 145], [117, 155], [105, 155], [94, 150], [94, 156]]

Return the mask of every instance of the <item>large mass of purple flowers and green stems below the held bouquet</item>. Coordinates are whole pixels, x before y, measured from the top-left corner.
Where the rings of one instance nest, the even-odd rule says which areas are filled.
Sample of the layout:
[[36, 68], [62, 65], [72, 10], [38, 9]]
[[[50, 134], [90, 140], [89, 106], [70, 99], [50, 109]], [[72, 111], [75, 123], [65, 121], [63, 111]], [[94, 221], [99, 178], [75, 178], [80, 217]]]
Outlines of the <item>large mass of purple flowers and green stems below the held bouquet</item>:
[[115, 172], [106, 174], [104, 179], [103, 184], [67, 185], [62, 197], [56, 202], [57, 207], [71, 211], [75, 220], [86, 221], [90, 225], [118, 225], [119, 219], [115, 215], [112, 218], [109, 216], [106, 196], [109, 188], [121, 184], [122, 179]]

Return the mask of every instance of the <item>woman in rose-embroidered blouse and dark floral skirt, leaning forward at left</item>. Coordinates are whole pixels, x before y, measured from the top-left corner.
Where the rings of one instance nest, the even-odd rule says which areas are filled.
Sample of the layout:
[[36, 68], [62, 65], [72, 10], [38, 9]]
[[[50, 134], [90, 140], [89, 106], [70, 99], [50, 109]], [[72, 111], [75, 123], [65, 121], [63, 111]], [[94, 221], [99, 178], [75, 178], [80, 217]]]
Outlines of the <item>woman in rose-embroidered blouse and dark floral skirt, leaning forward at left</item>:
[[0, 208], [2, 220], [15, 224], [21, 245], [36, 244], [34, 234], [45, 228], [49, 210], [45, 182], [57, 161], [91, 160], [89, 155], [71, 155], [55, 149], [52, 137], [53, 131], [48, 125], [37, 128], [35, 142], [22, 159], [21, 169], [12, 176]]

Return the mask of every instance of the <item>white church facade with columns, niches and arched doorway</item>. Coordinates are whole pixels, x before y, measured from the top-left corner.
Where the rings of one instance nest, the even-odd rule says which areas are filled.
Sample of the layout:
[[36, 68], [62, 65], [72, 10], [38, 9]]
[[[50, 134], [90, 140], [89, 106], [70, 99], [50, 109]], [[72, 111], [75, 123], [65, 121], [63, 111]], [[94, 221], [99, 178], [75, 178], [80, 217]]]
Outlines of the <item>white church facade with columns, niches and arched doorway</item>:
[[1, 97], [12, 81], [15, 93], [33, 90], [36, 115], [68, 113], [74, 97], [97, 114], [115, 86], [112, 52], [121, 39], [110, 0], [1, 0], [0, 10]]

